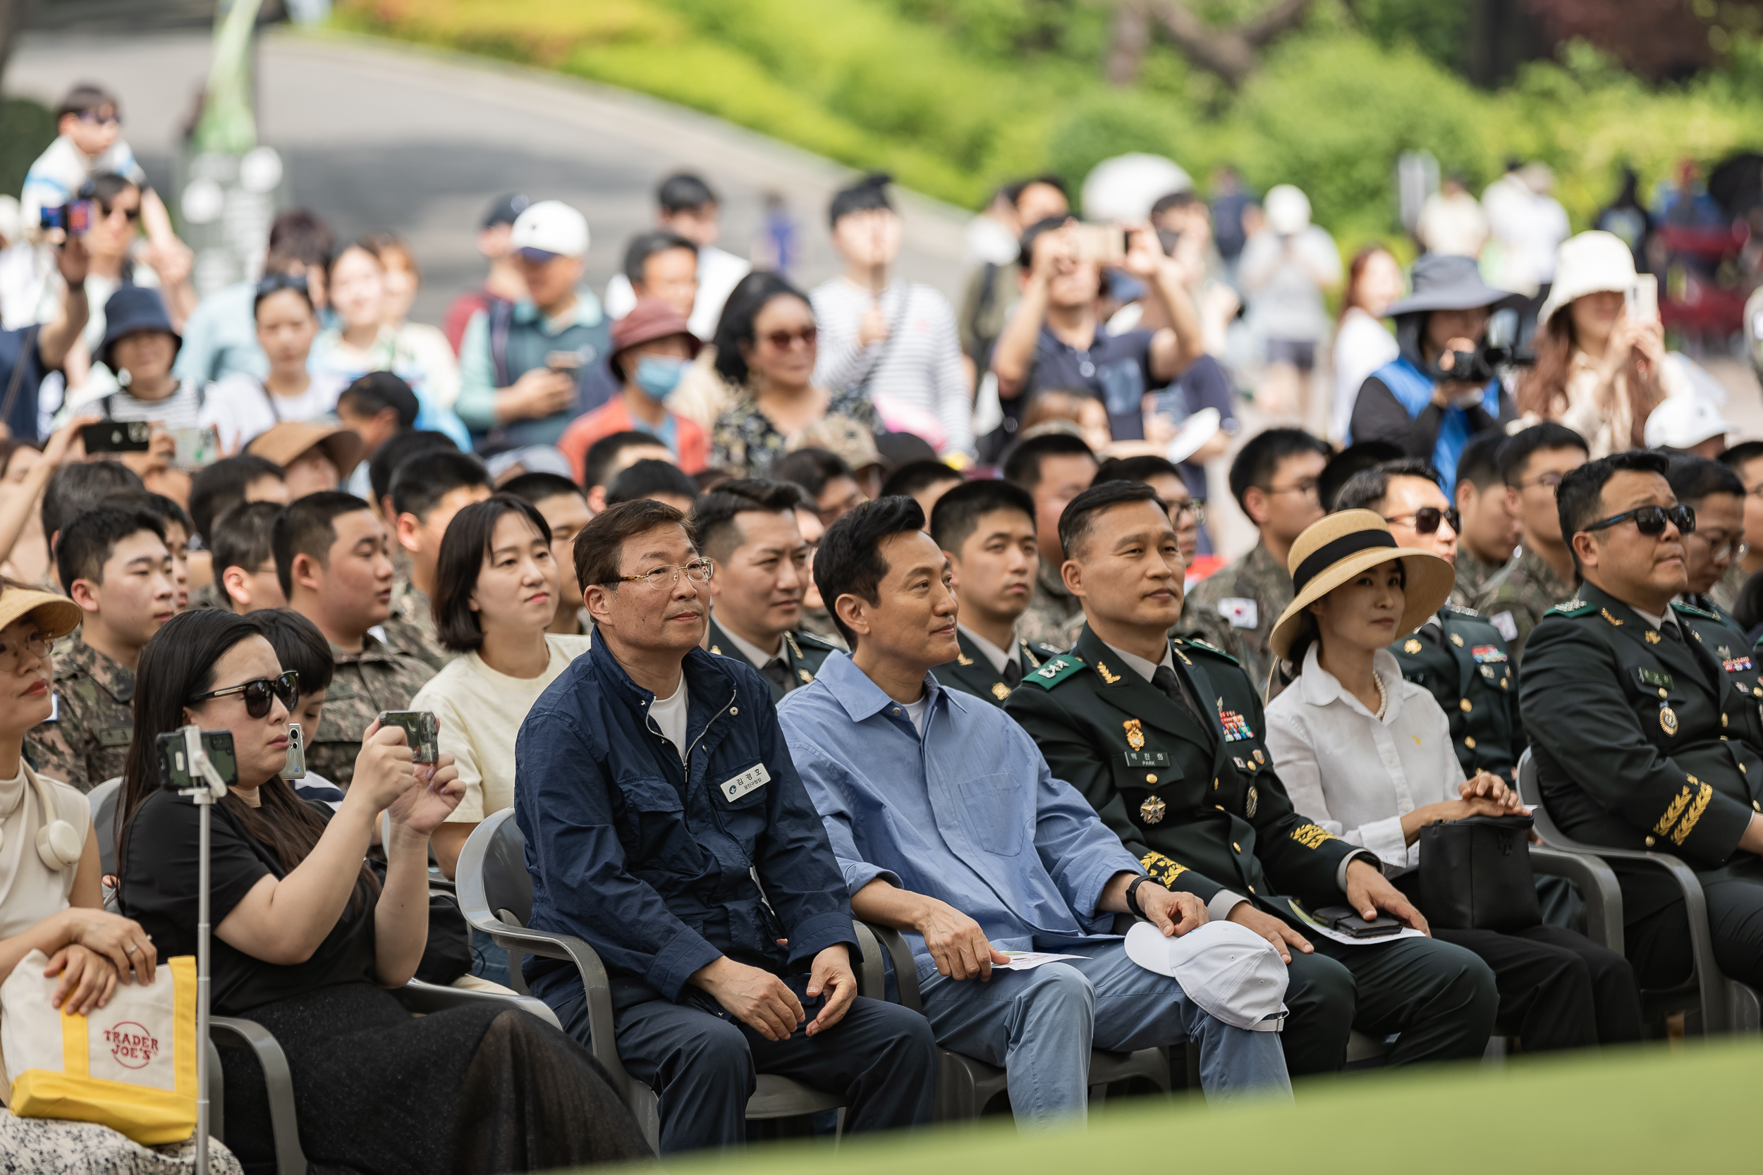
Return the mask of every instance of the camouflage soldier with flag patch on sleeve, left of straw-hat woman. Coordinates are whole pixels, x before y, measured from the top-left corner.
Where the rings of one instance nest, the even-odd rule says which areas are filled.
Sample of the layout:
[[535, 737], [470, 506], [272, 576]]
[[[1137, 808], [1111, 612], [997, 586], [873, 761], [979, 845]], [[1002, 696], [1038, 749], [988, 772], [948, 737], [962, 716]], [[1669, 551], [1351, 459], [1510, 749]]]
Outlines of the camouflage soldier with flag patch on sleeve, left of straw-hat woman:
[[1261, 532], [1248, 555], [1215, 571], [1183, 608], [1183, 632], [1201, 636], [1234, 657], [1257, 691], [1268, 685], [1273, 622], [1292, 602], [1285, 553], [1305, 527], [1322, 516], [1317, 481], [1328, 446], [1301, 428], [1269, 428], [1231, 462], [1231, 493]]

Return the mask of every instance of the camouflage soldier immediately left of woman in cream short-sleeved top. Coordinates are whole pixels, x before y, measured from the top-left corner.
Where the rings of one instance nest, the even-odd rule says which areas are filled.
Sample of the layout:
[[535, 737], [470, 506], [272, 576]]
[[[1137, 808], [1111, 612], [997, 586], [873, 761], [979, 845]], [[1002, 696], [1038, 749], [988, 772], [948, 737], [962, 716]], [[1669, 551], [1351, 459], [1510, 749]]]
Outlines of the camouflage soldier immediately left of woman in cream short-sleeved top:
[[367, 728], [381, 710], [407, 708], [434, 669], [370, 632], [391, 613], [393, 573], [391, 541], [367, 502], [353, 493], [307, 495], [277, 521], [277, 536], [275, 573], [287, 606], [317, 625], [335, 664], [307, 765], [347, 787]]

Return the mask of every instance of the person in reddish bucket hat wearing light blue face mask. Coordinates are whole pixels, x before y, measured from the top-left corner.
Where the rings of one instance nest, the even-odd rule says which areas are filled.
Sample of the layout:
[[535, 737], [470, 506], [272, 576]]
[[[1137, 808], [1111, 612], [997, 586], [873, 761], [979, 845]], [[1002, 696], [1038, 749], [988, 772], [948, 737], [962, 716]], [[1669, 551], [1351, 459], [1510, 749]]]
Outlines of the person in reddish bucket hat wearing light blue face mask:
[[688, 474], [710, 463], [710, 437], [703, 426], [666, 407], [702, 345], [686, 315], [659, 298], [638, 298], [636, 307], [612, 324], [610, 363], [619, 395], [575, 419], [557, 439], [577, 476], [591, 444], [631, 430], [654, 433]]

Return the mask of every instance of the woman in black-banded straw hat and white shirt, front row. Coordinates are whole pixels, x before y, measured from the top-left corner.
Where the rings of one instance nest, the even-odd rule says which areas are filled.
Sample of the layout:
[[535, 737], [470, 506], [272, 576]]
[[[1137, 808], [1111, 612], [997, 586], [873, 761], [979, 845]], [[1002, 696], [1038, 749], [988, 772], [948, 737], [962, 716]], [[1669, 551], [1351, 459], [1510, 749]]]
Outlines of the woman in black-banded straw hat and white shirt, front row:
[[[1444, 606], [1451, 564], [1396, 546], [1379, 514], [1350, 509], [1305, 530], [1289, 567], [1296, 595], [1269, 645], [1298, 676], [1268, 706], [1268, 750], [1292, 807], [1375, 853], [1412, 898], [1423, 826], [1523, 810], [1497, 775], [1463, 779], [1444, 710], [1389, 652]], [[1493, 969], [1499, 1025], [1527, 1052], [1641, 1036], [1634, 971], [1573, 930], [1435, 927], [1433, 937]]]

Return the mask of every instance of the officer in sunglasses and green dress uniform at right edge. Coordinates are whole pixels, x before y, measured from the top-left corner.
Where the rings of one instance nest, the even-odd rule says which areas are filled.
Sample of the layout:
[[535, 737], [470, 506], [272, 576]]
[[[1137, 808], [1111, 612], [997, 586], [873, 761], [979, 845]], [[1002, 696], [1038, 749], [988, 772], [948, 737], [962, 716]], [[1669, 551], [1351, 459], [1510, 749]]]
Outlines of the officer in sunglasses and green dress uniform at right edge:
[[[1721, 971], [1763, 985], [1763, 747], [1747, 735], [1763, 684], [1752, 657], [1682, 602], [1684, 534], [1659, 453], [1617, 453], [1560, 483], [1560, 528], [1583, 583], [1530, 636], [1520, 705], [1537, 782], [1564, 833], [1655, 849], [1696, 870]], [[1643, 987], [1691, 972], [1677, 884], [1611, 861], [1624, 942]]]

